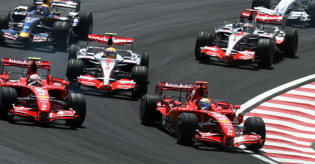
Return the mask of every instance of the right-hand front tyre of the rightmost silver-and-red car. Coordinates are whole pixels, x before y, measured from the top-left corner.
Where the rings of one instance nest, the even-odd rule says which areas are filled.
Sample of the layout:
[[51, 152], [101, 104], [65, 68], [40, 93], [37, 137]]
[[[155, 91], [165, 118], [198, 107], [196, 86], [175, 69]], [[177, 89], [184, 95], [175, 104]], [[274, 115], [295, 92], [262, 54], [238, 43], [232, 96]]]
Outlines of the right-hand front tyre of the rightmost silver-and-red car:
[[269, 68], [273, 61], [273, 43], [271, 39], [261, 38], [257, 42], [256, 56], [259, 61], [257, 65], [262, 68]]

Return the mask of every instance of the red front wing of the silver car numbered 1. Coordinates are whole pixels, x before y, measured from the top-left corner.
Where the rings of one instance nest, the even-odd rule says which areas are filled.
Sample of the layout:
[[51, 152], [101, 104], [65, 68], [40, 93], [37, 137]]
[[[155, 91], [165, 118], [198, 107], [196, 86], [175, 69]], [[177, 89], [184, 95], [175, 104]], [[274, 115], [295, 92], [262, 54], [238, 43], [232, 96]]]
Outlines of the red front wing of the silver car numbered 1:
[[235, 52], [236, 54], [226, 54], [223, 50], [228, 50], [226, 48], [219, 49], [218, 47], [200, 47], [201, 53], [204, 53], [210, 57], [216, 57], [219, 60], [223, 62], [231, 62], [234, 60], [254, 60], [254, 52], [245, 50], [245, 51], [236, 51], [231, 50], [232, 52]]

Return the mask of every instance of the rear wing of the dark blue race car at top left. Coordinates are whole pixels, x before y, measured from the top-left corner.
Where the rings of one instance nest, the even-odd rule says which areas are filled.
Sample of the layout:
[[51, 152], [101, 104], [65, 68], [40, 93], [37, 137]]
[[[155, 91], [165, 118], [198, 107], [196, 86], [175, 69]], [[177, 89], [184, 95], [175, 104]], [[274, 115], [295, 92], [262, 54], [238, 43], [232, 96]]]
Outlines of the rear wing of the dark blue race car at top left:
[[[53, 0], [52, 6], [65, 7], [80, 10], [80, 0]], [[43, 0], [34, 0], [33, 4], [43, 4]]]

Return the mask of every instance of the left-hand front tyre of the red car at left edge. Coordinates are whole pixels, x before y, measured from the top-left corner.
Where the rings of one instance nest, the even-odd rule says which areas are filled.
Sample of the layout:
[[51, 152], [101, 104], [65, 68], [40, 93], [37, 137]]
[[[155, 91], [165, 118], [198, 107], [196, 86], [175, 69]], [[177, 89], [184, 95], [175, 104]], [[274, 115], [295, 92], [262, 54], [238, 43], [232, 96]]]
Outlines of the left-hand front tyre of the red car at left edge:
[[0, 118], [11, 120], [14, 115], [8, 115], [9, 110], [13, 108], [12, 104], [17, 103], [18, 94], [14, 88], [0, 88]]

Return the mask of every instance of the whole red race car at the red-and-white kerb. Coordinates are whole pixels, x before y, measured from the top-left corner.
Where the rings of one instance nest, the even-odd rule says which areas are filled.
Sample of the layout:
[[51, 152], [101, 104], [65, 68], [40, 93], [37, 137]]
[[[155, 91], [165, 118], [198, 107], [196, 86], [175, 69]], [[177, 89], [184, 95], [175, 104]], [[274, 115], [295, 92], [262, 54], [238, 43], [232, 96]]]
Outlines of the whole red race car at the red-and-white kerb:
[[[264, 121], [259, 117], [245, 120], [235, 111], [240, 105], [207, 97], [207, 82], [195, 84], [164, 83], [156, 85], [155, 94], [145, 94], [140, 102], [140, 120], [144, 125], [157, 124], [175, 133], [178, 143], [219, 143], [228, 148], [244, 144], [248, 149], [261, 149], [266, 138]], [[180, 91], [176, 96], [164, 96], [165, 90]], [[186, 96], [182, 96], [186, 92]], [[179, 100], [171, 99], [177, 97]], [[206, 98], [205, 98], [206, 97]], [[184, 103], [182, 98], [186, 98]]]

